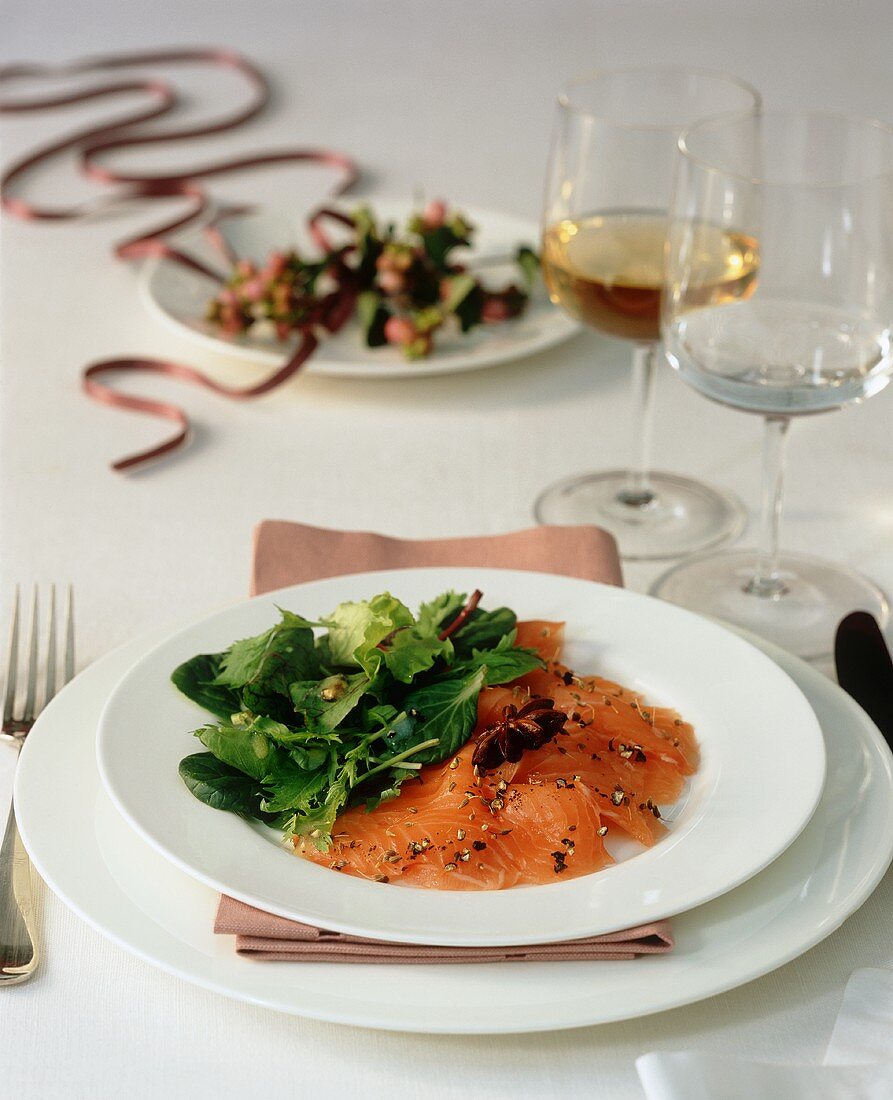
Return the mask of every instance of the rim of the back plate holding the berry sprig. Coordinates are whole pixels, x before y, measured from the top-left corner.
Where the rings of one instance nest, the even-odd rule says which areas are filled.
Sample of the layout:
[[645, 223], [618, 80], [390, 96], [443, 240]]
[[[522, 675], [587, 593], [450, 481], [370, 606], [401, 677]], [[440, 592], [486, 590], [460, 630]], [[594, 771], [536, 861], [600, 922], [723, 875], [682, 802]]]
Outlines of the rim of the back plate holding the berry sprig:
[[[334, 201], [337, 205], [338, 200]], [[360, 201], [360, 199], [357, 199], [357, 201]], [[408, 211], [412, 208], [411, 201], [399, 200], [389, 196], [371, 198], [370, 202], [381, 206], [386, 210], [393, 208], [406, 209]], [[496, 218], [515, 221], [519, 226], [526, 227], [523, 230], [525, 233], [531, 235], [536, 240], [539, 240], [540, 227], [533, 219], [525, 218], [520, 215], [514, 215], [506, 210], [494, 210], [492, 208], [476, 206], [467, 207], [466, 212], [473, 221], [476, 220], [478, 222]], [[290, 221], [294, 221], [295, 219], [294, 212], [288, 213], [284, 210], [284, 208], [273, 204], [265, 204], [257, 210], [252, 211], [252, 213], [267, 213], [271, 217], [278, 216]], [[166, 310], [158, 301], [154, 288], [155, 279], [159, 276], [165, 263], [166, 261], [163, 257], [152, 256], [148, 257], [140, 267], [137, 276], [137, 292], [150, 316], [154, 317], [157, 321], [164, 324], [169, 332], [177, 333], [183, 339], [190, 340], [197, 346], [200, 346], [206, 351], [214, 352], [220, 356], [227, 356], [232, 360], [233, 363], [265, 367], [282, 365], [284, 356], [278, 354], [273, 349], [240, 344], [214, 337], [211, 333], [191, 328], [189, 324], [179, 320], [175, 315]], [[484, 345], [476, 352], [467, 352], [464, 355], [456, 356], [452, 362], [444, 361], [442, 359], [438, 360], [437, 354], [434, 354], [430, 359], [416, 361], [415, 363], [401, 362], [381, 364], [350, 359], [327, 361], [319, 360], [317, 356], [311, 356], [304, 370], [304, 373], [311, 374], [315, 377], [356, 380], [368, 378], [373, 381], [379, 380], [392, 382], [398, 378], [428, 378], [440, 375], [462, 374], [468, 371], [483, 371], [493, 366], [499, 366], [500, 364], [512, 363], [522, 359], [528, 359], [531, 355], [537, 355], [540, 352], [550, 351], [552, 348], [559, 346], [582, 331], [583, 326], [578, 321], [569, 317], [562, 310], [558, 309], [558, 307], [554, 307], [552, 324], [538, 337], [530, 338], [525, 342], [519, 342], [518, 346], [509, 352], [506, 352], [505, 349], [499, 350], [497, 348], [487, 350], [486, 345]]]

